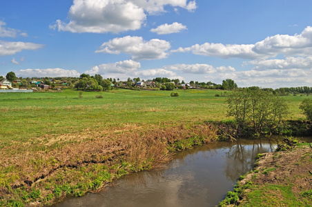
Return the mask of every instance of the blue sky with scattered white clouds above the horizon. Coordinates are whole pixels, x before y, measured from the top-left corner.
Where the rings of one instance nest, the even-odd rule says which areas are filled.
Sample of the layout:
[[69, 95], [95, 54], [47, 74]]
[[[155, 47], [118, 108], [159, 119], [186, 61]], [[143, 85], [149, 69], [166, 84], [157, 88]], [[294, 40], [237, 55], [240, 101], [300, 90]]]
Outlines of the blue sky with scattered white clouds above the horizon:
[[0, 75], [312, 86], [311, 0], [3, 0]]

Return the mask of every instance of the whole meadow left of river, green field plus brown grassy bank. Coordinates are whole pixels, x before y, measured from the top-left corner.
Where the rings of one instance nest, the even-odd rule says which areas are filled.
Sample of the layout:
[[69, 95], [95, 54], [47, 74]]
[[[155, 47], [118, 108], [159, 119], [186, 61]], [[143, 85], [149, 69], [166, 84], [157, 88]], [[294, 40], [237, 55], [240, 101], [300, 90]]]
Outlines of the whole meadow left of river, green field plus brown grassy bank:
[[[45, 206], [216, 139], [222, 90], [0, 93], [0, 206]], [[175, 92], [176, 92], [175, 91]], [[304, 96], [284, 97], [304, 119]]]

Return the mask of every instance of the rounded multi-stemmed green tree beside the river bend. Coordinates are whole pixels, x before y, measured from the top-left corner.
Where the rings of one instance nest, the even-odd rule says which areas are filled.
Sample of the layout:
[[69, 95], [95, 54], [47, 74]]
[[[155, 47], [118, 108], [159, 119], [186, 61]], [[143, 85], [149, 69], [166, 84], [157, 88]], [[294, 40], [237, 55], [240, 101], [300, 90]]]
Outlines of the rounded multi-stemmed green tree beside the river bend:
[[226, 102], [228, 116], [234, 117], [239, 133], [248, 128], [256, 134], [271, 132], [288, 111], [284, 99], [257, 88], [234, 90]]

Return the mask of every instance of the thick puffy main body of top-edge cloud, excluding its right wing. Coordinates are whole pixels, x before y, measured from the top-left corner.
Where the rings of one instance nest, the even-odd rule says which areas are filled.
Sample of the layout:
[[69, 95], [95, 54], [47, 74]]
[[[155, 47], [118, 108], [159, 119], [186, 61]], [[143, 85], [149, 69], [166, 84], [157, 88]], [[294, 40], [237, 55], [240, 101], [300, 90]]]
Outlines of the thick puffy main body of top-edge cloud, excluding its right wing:
[[50, 28], [69, 32], [121, 32], [138, 30], [146, 14], [131, 1], [74, 0], [68, 12], [69, 23], [57, 20]]

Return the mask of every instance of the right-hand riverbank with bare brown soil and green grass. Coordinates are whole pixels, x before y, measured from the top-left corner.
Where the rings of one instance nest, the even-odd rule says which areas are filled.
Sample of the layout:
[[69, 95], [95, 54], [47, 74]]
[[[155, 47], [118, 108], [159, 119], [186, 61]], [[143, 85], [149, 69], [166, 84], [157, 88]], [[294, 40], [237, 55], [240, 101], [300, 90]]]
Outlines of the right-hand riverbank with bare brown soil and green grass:
[[309, 144], [258, 157], [255, 169], [240, 177], [233, 192], [228, 192], [219, 206], [311, 206]]

